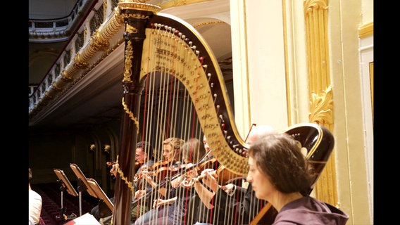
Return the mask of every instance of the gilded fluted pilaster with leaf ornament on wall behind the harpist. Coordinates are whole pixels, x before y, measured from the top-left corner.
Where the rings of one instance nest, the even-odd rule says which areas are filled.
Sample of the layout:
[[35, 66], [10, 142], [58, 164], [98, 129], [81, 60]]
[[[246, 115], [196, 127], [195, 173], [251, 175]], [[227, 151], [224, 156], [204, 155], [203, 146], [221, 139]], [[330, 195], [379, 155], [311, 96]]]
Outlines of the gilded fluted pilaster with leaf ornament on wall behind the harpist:
[[[332, 132], [333, 94], [330, 86], [327, 9], [327, 0], [304, 1], [308, 86], [311, 103], [309, 121], [320, 124]], [[334, 152], [315, 185], [315, 197], [339, 207]]]

